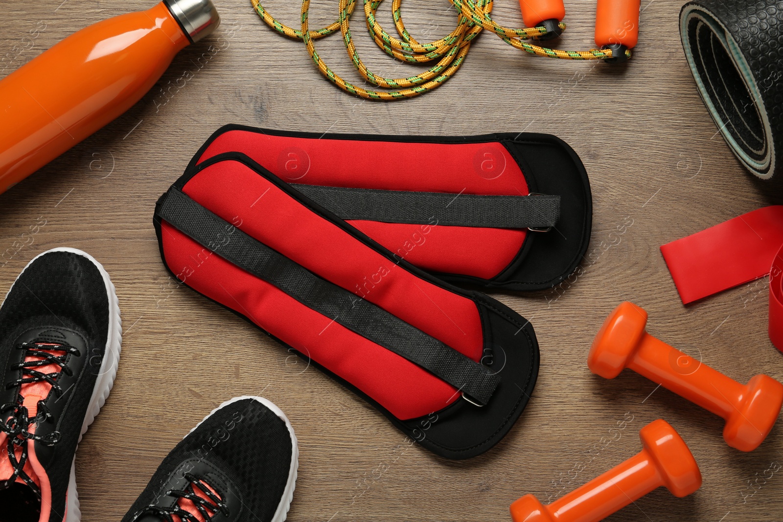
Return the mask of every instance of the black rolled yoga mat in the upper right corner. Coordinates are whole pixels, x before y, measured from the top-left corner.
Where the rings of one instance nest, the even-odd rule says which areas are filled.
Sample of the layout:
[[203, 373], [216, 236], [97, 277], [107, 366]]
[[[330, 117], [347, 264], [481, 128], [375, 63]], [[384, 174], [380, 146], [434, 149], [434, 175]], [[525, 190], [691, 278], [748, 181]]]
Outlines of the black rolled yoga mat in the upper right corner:
[[783, 0], [698, 0], [680, 11], [698, 92], [742, 164], [783, 177]]

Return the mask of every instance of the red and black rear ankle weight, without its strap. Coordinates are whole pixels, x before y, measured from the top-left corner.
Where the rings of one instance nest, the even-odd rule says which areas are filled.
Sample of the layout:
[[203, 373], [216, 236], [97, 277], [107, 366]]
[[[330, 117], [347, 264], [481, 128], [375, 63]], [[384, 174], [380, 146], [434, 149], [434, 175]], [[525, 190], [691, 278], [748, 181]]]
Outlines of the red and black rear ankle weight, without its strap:
[[437, 213], [429, 224], [347, 219], [398, 257], [453, 283], [550, 288], [576, 269], [590, 242], [590, 182], [576, 153], [552, 135], [423, 138], [227, 125], [204, 143], [190, 167], [233, 151], [291, 184], [454, 196], [560, 196], [559, 219], [547, 232], [435, 225]]

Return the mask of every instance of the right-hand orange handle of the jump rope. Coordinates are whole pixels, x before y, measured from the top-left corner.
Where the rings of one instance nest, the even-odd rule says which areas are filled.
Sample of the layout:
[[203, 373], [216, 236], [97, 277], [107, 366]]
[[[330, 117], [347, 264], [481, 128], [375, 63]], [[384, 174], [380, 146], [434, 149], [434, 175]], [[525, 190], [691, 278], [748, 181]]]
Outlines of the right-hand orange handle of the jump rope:
[[[636, 47], [639, 39], [640, 0], [598, 0], [595, 9], [595, 44], [602, 49], [610, 46]], [[614, 51], [614, 49], [612, 49]], [[613, 53], [614, 54], [614, 53]]]

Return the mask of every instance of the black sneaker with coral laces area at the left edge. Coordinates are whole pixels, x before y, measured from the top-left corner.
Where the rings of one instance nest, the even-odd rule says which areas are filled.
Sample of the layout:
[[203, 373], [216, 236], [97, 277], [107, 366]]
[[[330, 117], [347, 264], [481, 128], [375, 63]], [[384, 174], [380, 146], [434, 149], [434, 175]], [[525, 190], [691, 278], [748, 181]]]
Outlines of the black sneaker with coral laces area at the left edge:
[[78, 522], [74, 455], [114, 383], [120, 308], [81, 250], [35, 257], [0, 308], [0, 522]]

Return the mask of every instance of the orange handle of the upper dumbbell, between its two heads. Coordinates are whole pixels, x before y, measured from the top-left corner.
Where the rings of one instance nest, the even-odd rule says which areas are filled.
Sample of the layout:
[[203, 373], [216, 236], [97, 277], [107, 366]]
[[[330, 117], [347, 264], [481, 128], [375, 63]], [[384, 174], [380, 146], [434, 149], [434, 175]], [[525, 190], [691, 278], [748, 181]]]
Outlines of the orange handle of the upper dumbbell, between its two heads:
[[627, 367], [728, 419], [737, 409], [745, 386], [649, 333], [641, 337]]

